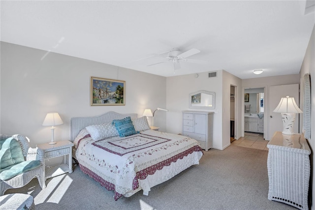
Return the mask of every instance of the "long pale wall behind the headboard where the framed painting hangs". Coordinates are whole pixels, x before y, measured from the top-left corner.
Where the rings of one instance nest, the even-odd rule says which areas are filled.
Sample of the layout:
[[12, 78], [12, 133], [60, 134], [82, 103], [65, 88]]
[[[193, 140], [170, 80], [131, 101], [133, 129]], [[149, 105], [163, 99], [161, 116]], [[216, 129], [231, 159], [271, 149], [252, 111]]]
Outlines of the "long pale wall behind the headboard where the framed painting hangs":
[[[64, 122], [56, 126], [55, 139], [67, 140], [71, 117], [107, 111], [140, 117], [145, 108], [166, 106], [166, 77], [57, 53], [43, 58], [46, 51], [0, 44], [0, 133], [28, 136], [31, 146], [51, 140], [49, 127], [42, 126], [48, 112], [59, 112]], [[126, 81], [126, 105], [90, 106], [91, 76]], [[165, 121], [165, 114], [155, 118], [160, 131]]]

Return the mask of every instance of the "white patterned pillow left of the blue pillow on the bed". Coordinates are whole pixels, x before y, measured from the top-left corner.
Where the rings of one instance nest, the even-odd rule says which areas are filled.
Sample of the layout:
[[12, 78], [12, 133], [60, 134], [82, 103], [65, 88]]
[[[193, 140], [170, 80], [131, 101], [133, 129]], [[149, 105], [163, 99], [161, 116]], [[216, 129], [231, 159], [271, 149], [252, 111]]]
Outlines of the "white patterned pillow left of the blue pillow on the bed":
[[94, 140], [101, 140], [106, 137], [119, 136], [118, 131], [112, 123], [104, 123], [99, 125], [90, 125], [86, 127], [91, 138]]

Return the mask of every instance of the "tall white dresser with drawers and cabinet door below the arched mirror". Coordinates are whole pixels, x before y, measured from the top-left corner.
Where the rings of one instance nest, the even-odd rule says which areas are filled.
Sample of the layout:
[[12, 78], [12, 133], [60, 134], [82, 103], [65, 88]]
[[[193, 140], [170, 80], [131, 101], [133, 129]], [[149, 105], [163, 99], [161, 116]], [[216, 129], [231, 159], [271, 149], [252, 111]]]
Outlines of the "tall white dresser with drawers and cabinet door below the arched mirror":
[[213, 114], [209, 111], [183, 111], [183, 136], [197, 140], [206, 151], [212, 148]]

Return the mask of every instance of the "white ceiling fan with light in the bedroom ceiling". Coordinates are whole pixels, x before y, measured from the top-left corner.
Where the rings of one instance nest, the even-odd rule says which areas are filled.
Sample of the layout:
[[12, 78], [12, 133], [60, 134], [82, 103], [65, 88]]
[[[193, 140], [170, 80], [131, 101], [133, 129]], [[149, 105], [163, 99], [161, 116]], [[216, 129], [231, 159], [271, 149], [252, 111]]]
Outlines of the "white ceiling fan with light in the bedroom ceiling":
[[181, 52], [175, 48], [175, 49], [172, 49], [168, 52], [167, 57], [163, 56], [162, 54], [153, 53], [151, 55], [165, 58], [166, 61], [161, 61], [158, 63], [150, 64], [150, 65], [148, 65], [148, 67], [153, 66], [153, 65], [157, 65], [157, 64], [161, 64], [161, 63], [171, 62], [171, 63], [173, 63], [174, 70], [178, 70], [178, 69], [181, 69], [180, 62], [197, 63], [197, 64], [206, 63], [206, 61], [188, 58], [189, 56], [195, 55], [197, 53], [200, 53], [200, 50], [198, 50], [196, 48], [192, 48], [186, 52]]

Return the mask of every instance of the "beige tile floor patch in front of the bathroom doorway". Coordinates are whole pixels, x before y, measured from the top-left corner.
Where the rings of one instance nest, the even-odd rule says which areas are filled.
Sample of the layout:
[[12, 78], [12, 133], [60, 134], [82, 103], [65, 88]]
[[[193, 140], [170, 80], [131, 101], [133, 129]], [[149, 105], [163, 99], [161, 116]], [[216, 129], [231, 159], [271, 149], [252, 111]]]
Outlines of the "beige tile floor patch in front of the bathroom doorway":
[[263, 137], [263, 134], [245, 133], [244, 137], [238, 140], [233, 140], [231, 144], [253, 149], [268, 150], [267, 143], [269, 141], [264, 140]]

